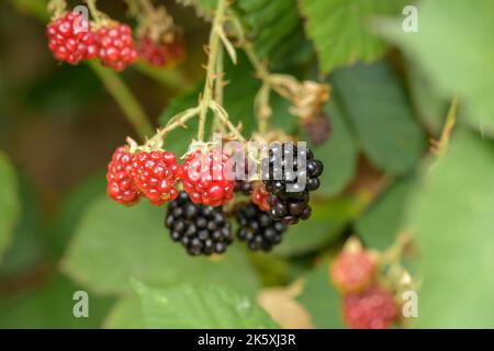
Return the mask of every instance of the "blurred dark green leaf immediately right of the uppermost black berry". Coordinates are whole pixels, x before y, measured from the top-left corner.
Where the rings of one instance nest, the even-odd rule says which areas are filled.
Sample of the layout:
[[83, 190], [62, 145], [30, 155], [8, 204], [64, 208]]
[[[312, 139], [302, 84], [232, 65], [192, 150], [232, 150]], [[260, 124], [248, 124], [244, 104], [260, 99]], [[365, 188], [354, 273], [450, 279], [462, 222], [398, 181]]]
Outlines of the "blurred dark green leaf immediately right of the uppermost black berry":
[[317, 147], [311, 145], [311, 149], [315, 157], [326, 165], [317, 194], [334, 196], [339, 194], [353, 178], [359, 150], [336, 99], [326, 104], [325, 111], [332, 126], [329, 140]]

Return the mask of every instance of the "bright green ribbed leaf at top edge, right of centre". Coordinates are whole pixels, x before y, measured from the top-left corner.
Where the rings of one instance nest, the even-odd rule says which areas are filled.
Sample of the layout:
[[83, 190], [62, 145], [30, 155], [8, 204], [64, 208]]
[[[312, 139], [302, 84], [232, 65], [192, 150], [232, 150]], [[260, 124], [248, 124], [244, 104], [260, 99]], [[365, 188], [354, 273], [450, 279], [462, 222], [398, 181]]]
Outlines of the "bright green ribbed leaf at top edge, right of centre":
[[301, 0], [306, 33], [314, 42], [325, 73], [356, 60], [371, 61], [384, 54], [386, 45], [369, 33], [374, 16], [397, 14], [397, 0]]

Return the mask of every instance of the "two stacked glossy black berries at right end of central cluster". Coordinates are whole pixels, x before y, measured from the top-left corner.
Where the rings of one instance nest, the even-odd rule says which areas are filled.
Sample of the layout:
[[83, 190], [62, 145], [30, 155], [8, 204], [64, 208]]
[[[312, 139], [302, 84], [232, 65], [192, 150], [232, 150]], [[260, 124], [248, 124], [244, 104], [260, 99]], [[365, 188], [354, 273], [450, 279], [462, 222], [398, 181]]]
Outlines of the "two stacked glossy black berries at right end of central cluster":
[[[312, 212], [308, 193], [321, 185], [318, 178], [324, 171], [323, 162], [314, 158], [311, 149], [297, 149], [293, 143], [283, 143], [269, 148], [261, 167], [262, 180], [270, 194], [271, 217], [285, 224], [307, 219]], [[301, 178], [305, 178], [305, 184], [297, 183]]]

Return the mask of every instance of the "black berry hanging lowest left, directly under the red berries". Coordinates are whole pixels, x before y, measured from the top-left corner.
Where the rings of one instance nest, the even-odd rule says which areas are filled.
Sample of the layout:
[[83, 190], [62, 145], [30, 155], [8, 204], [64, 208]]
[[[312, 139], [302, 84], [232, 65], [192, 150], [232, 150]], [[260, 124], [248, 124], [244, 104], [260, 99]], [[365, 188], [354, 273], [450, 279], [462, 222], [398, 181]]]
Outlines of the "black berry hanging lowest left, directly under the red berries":
[[181, 191], [168, 206], [165, 226], [191, 256], [223, 253], [232, 244], [232, 226], [221, 207], [194, 204]]

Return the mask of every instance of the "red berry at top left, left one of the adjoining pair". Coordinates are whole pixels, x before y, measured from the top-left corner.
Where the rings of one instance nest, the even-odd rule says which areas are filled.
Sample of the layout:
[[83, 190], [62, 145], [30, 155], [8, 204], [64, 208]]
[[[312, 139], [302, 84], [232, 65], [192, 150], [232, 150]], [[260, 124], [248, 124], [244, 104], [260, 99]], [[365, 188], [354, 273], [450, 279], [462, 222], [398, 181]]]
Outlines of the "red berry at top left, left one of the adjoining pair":
[[48, 24], [46, 34], [48, 47], [59, 61], [77, 65], [83, 59], [94, 58], [98, 54], [91, 25], [80, 13], [67, 12]]

